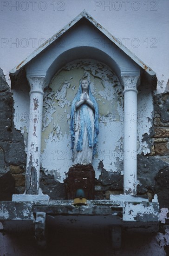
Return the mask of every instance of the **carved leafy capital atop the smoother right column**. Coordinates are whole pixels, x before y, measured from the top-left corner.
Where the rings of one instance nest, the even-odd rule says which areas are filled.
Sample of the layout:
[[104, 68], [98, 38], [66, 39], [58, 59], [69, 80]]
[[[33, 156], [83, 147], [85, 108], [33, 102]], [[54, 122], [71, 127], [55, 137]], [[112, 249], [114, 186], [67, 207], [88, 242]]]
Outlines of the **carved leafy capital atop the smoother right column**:
[[124, 91], [134, 91], [138, 93], [137, 86], [140, 84], [140, 75], [122, 75], [124, 82]]

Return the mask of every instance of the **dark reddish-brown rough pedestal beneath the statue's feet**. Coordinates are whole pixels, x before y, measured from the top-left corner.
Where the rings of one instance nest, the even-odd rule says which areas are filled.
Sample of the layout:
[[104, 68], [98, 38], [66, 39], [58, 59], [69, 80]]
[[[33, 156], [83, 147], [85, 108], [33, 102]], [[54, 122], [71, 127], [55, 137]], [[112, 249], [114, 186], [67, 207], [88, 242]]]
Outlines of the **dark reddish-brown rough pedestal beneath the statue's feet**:
[[83, 189], [86, 199], [94, 199], [95, 171], [91, 164], [69, 168], [65, 186], [68, 199], [76, 197], [77, 189]]

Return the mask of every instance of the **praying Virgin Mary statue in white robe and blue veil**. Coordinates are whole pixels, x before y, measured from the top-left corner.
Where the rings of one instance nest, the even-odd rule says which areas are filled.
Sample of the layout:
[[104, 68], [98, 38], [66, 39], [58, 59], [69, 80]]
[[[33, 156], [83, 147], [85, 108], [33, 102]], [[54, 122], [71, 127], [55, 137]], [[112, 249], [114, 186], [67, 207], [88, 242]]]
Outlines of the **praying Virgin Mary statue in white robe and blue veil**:
[[72, 101], [70, 129], [73, 164], [91, 164], [99, 133], [98, 106], [87, 79], [80, 82], [78, 93]]

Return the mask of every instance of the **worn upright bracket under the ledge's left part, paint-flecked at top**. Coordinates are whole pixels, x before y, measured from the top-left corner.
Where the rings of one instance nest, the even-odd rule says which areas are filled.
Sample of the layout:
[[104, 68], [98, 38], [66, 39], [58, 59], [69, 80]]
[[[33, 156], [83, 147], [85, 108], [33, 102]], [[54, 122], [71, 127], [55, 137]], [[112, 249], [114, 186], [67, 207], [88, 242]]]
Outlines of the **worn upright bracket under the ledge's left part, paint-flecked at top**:
[[46, 238], [45, 238], [45, 212], [36, 212], [35, 215], [35, 238], [37, 240], [38, 246], [42, 249], [46, 248]]

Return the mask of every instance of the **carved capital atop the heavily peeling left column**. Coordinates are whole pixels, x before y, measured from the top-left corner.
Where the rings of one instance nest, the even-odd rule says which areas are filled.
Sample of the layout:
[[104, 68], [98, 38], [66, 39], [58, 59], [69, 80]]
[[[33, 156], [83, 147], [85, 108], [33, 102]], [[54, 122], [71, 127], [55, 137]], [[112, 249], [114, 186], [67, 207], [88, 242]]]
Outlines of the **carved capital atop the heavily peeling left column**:
[[40, 93], [44, 95], [44, 89], [47, 86], [47, 81], [45, 76], [27, 76], [31, 90], [29, 94]]

